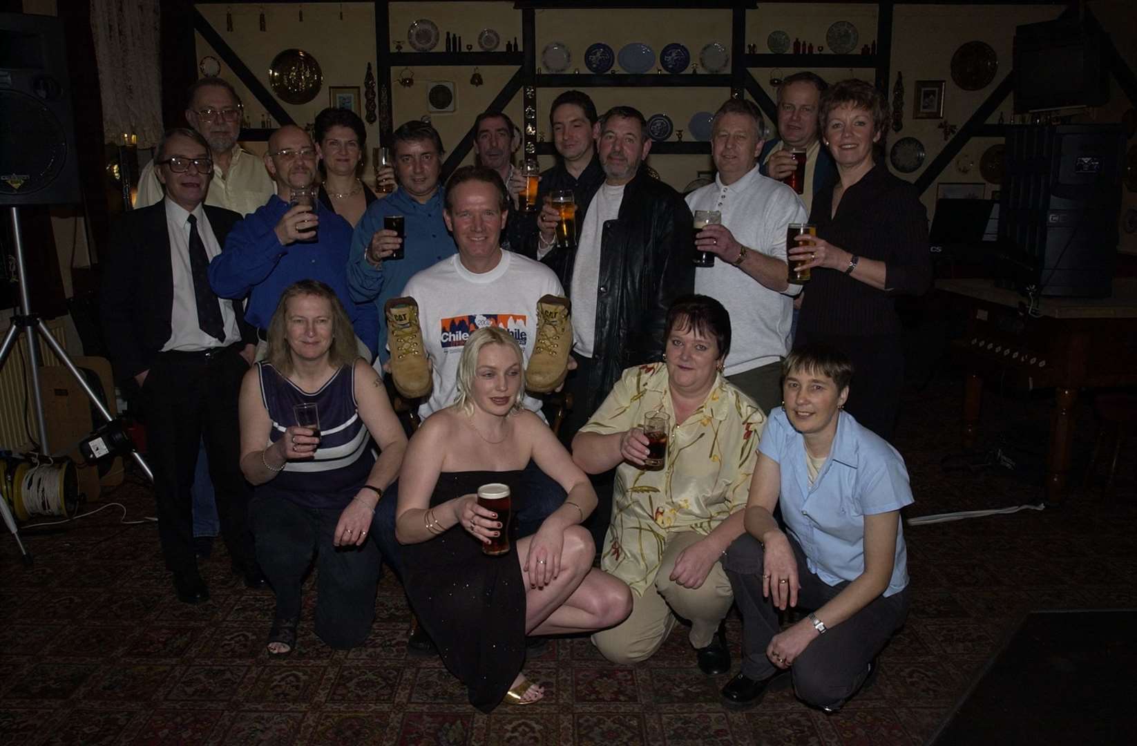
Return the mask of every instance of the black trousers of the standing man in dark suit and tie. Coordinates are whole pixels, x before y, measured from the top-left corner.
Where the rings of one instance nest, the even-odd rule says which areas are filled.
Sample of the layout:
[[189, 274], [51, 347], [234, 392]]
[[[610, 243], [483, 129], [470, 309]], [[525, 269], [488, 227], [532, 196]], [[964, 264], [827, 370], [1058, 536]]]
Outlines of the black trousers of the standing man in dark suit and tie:
[[254, 566], [248, 530], [249, 486], [241, 474], [238, 418], [241, 378], [248, 370], [238, 346], [211, 354], [159, 353], [142, 384], [158, 539], [166, 569], [173, 572], [197, 567], [190, 488], [202, 441], [216, 490], [222, 537], [233, 566], [242, 572]]

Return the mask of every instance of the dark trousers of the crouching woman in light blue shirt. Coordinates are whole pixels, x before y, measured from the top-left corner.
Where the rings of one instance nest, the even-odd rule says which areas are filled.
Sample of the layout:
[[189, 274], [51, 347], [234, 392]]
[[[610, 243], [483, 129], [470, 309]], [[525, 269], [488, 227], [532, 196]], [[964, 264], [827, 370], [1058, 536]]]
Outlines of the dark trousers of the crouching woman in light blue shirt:
[[[841, 592], [848, 582], [830, 586], [808, 571], [805, 553], [794, 537], [786, 534], [797, 558], [798, 608], [815, 610]], [[735, 603], [742, 615], [742, 674], [762, 680], [778, 669], [766, 657], [766, 647], [781, 631], [778, 610], [762, 597], [762, 567], [765, 549], [749, 533], [735, 539], [727, 549], [722, 566], [735, 591]], [[794, 661], [794, 689], [798, 698], [815, 707], [839, 705], [856, 694], [869, 674], [869, 663], [885, 647], [888, 638], [904, 623], [908, 612], [908, 591], [885, 598], [879, 596], [856, 614], [830, 628]], [[824, 620], [822, 620], [824, 621]]]

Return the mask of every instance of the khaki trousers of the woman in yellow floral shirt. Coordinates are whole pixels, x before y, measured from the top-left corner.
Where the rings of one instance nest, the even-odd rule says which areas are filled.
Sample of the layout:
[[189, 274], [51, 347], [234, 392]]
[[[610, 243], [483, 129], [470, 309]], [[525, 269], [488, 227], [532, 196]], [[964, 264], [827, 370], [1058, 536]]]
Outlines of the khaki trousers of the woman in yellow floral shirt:
[[646, 661], [667, 639], [677, 615], [691, 622], [688, 639], [695, 648], [711, 644], [735, 600], [722, 563], [711, 566], [698, 588], [683, 588], [671, 580], [679, 554], [703, 538], [694, 531], [669, 534], [655, 582], [642, 596], [632, 592], [632, 613], [623, 623], [592, 635], [592, 644], [604, 657], [613, 663]]

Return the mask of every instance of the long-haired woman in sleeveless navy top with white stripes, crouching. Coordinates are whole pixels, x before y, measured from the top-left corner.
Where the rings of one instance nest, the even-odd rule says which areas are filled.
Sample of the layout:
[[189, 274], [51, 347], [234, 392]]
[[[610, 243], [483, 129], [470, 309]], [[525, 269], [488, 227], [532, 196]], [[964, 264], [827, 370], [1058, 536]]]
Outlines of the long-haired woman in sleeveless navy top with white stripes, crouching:
[[[273, 655], [296, 647], [313, 554], [316, 635], [331, 647], [355, 647], [374, 615], [380, 556], [367, 529], [398, 476], [407, 439], [382, 379], [356, 349], [335, 291], [304, 280], [284, 290], [268, 325], [267, 357], [241, 386], [241, 471], [256, 487], [250, 524], [276, 592]], [[306, 404], [317, 408], [316, 428], [297, 423], [297, 406]]]

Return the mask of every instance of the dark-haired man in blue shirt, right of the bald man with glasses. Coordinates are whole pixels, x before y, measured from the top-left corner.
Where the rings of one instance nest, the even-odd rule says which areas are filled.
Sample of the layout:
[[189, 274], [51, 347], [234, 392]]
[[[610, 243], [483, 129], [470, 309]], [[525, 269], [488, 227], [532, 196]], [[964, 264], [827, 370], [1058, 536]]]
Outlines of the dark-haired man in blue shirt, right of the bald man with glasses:
[[[348, 288], [357, 302], [374, 301], [379, 312], [376, 339], [365, 339], [379, 350], [379, 359], [390, 357], [385, 347], [387, 318], [383, 305], [402, 295], [416, 272], [453, 256], [457, 248], [442, 222], [446, 198], [439, 180], [442, 172], [442, 140], [429, 124], [410, 121], [392, 135], [398, 190], [371, 204], [351, 237]], [[404, 239], [383, 229], [388, 215], [402, 215]], [[404, 258], [391, 254], [404, 246]]]

